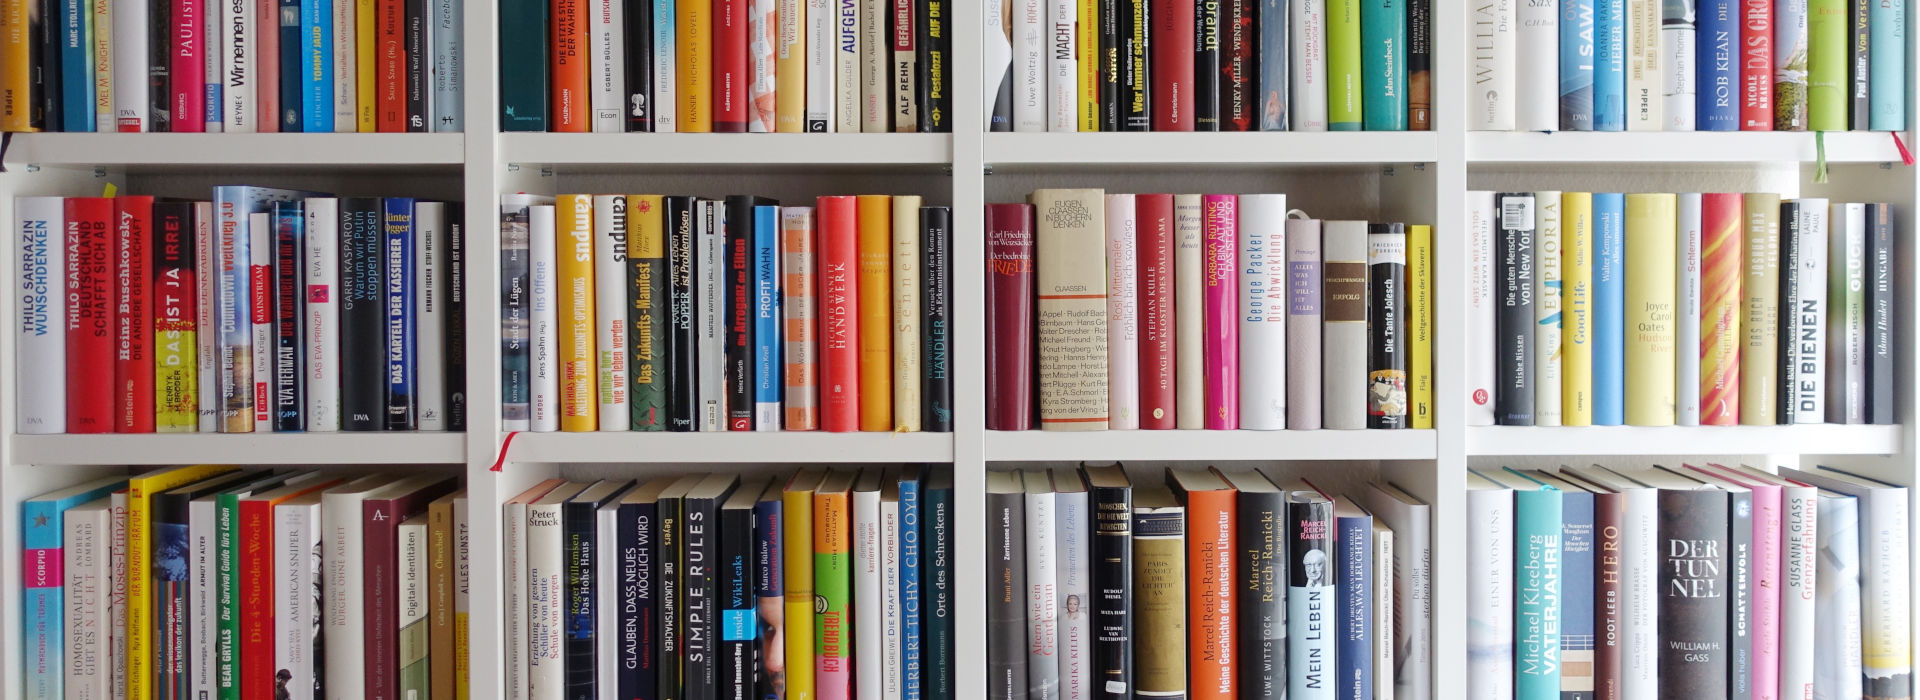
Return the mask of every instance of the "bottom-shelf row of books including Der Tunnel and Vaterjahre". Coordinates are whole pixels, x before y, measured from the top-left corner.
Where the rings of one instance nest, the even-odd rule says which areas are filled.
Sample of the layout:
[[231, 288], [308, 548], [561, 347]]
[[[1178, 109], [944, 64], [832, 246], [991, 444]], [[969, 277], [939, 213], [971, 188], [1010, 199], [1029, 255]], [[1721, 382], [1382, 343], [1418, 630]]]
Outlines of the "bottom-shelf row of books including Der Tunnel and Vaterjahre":
[[1467, 476], [1473, 698], [1910, 698], [1907, 489], [1834, 468]]

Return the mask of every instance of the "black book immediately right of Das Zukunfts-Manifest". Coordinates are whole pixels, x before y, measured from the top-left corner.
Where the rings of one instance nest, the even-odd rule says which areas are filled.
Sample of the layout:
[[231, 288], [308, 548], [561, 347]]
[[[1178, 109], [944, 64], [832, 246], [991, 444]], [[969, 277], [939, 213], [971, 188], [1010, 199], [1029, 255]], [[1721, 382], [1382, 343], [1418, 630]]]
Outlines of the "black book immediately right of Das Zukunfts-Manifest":
[[693, 432], [699, 416], [699, 357], [693, 328], [693, 234], [695, 199], [664, 198], [666, 209], [666, 430]]

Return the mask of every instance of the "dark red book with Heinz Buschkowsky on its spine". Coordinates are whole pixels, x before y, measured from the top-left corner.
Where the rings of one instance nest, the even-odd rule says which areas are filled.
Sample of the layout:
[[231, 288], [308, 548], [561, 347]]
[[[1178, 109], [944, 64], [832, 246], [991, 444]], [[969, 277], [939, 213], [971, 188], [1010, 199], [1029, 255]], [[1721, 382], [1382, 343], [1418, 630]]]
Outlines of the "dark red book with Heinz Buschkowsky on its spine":
[[113, 432], [154, 432], [154, 198], [113, 199]]

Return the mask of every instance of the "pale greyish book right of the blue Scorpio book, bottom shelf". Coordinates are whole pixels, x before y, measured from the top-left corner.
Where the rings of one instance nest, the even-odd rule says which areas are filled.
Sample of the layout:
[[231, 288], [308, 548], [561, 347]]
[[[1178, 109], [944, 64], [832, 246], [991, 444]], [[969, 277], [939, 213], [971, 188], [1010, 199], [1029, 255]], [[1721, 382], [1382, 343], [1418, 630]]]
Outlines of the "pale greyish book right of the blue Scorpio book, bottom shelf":
[[[123, 497], [125, 499], [125, 497]], [[113, 529], [113, 499], [67, 508], [61, 514], [61, 585], [65, 585], [67, 658], [61, 669], [67, 698], [113, 698], [109, 673], [113, 635], [108, 631], [113, 606], [113, 558], [108, 547]], [[121, 621], [125, 625], [125, 621]]]

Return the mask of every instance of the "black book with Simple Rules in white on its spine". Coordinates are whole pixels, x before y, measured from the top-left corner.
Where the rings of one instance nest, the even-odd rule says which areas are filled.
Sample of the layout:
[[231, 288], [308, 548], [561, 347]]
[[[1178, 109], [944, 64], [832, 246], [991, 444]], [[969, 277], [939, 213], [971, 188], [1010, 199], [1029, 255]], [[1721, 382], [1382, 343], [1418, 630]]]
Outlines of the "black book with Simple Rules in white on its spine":
[[682, 499], [680, 688], [687, 700], [718, 696], [720, 654], [720, 504], [733, 495], [735, 474], [707, 474]]

